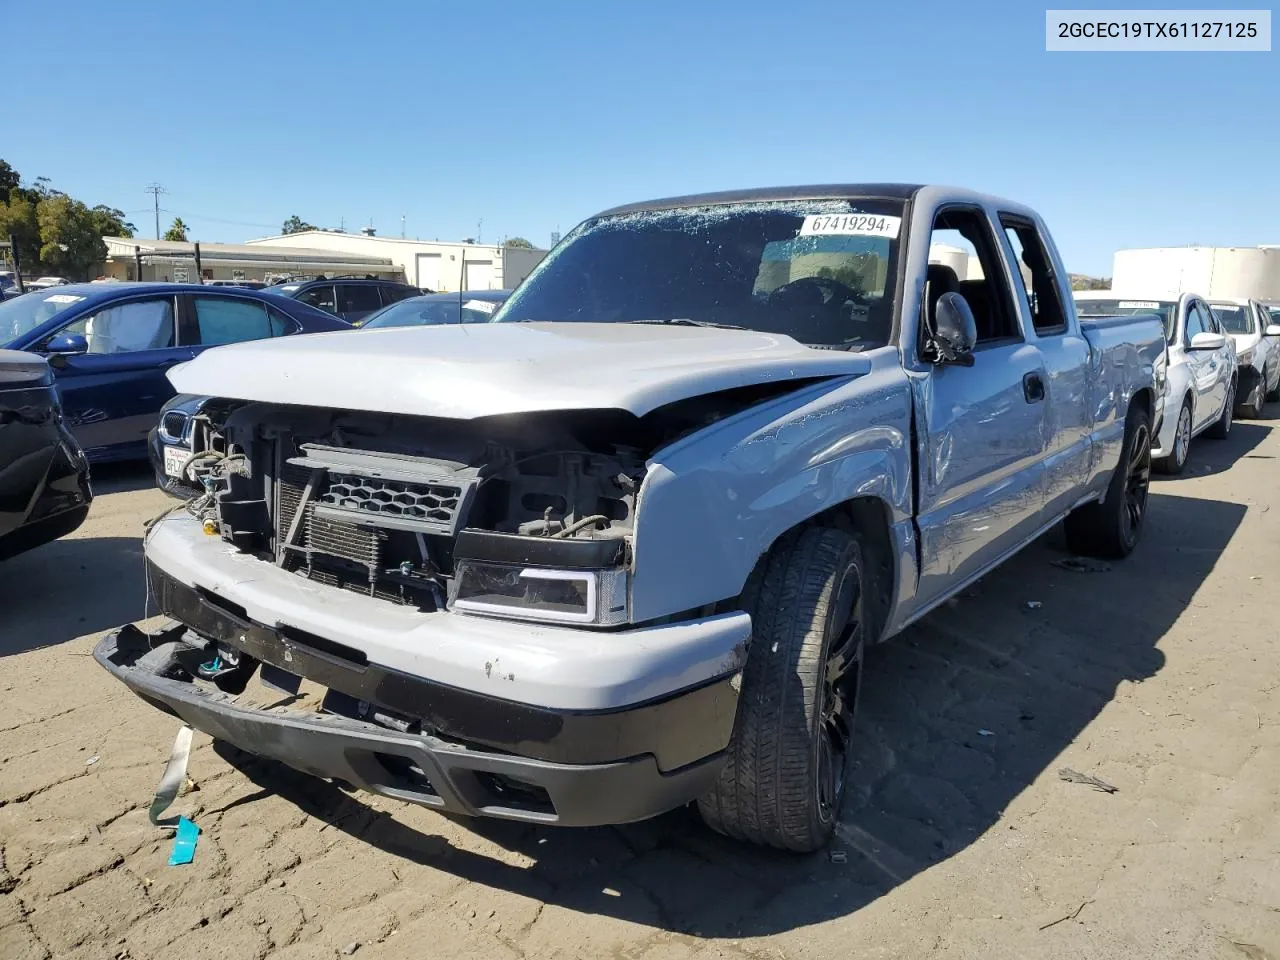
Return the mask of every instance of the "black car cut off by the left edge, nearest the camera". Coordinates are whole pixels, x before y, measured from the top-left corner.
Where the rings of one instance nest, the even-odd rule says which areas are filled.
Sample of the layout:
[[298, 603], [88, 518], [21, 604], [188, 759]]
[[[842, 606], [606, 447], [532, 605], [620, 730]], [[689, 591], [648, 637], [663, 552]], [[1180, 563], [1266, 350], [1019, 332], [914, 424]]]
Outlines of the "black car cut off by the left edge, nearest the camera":
[[0, 349], [0, 559], [69, 534], [92, 498], [49, 364]]

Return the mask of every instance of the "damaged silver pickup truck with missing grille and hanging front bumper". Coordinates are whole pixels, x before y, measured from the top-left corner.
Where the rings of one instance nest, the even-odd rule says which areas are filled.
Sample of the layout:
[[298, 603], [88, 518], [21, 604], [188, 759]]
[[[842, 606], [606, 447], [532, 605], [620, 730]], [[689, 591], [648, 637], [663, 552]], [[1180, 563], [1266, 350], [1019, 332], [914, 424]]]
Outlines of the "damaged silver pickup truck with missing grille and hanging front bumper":
[[[1138, 540], [1164, 332], [1082, 323], [1066, 276], [1018, 204], [762, 189], [593, 216], [493, 323], [209, 351], [170, 374], [212, 398], [204, 493], [146, 538], [169, 625], [97, 660], [378, 794], [561, 824], [696, 801], [815, 849], [867, 644], [1060, 521]], [[253, 675], [319, 709], [248, 705]]]

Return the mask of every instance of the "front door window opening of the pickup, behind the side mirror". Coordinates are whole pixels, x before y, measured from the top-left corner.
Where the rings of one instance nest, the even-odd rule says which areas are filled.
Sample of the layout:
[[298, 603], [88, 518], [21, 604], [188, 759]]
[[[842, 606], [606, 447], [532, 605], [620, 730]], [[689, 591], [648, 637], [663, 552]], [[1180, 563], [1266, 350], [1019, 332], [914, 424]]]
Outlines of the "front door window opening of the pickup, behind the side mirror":
[[973, 311], [978, 343], [1021, 339], [996, 251], [996, 238], [982, 210], [948, 207], [937, 214], [929, 234], [931, 262], [924, 297], [931, 326], [938, 297], [959, 293]]

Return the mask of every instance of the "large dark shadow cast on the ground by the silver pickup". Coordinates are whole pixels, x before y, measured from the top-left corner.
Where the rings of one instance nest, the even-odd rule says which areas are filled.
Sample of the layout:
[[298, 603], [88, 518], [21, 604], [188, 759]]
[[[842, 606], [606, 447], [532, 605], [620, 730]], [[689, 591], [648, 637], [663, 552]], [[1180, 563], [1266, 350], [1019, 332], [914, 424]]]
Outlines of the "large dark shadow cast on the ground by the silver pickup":
[[[466, 822], [530, 864], [512, 865], [371, 810], [358, 795], [218, 750], [259, 787], [360, 842], [466, 881], [700, 937], [791, 931], [859, 910], [997, 823], [1121, 681], [1160, 671], [1156, 644], [1244, 512], [1153, 493], [1146, 539], [1128, 561], [1056, 566], [1070, 556], [1052, 532], [870, 650], [849, 796], [827, 852], [746, 847], [689, 809], [579, 831]], [[223, 842], [234, 849], [233, 837]]]

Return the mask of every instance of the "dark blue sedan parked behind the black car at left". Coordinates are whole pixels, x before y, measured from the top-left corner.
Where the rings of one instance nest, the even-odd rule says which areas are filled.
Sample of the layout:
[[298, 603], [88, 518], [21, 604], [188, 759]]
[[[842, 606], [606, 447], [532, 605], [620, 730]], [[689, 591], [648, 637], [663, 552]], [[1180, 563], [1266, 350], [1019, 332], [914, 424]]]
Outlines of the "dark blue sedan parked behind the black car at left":
[[49, 357], [91, 461], [141, 460], [173, 397], [165, 372], [220, 343], [347, 330], [297, 301], [179, 283], [82, 283], [0, 303], [0, 347]]

